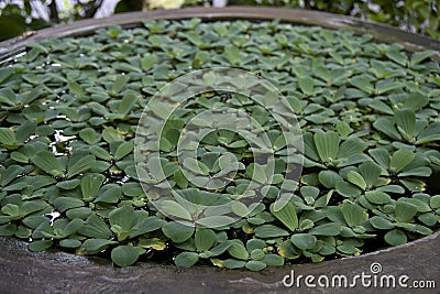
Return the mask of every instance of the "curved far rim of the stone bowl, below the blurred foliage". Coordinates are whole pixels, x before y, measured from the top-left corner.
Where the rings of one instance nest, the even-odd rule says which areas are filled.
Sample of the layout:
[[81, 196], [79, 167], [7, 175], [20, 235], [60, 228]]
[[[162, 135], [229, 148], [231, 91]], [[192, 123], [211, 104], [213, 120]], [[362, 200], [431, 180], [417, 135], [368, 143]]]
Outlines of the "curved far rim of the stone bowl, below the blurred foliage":
[[0, 57], [8, 57], [23, 51], [30, 42], [47, 39], [80, 36], [94, 33], [108, 25], [119, 24], [123, 28], [136, 28], [145, 20], [184, 20], [200, 18], [204, 21], [253, 20], [268, 21], [278, 19], [282, 22], [300, 25], [318, 25], [328, 29], [348, 29], [358, 34], [372, 34], [376, 41], [400, 43], [409, 51], [432, 50], [440, 59], [440, 41], [410, 33], [400, 29], [341, 14], [312, 11], [306, 9], [286, 9], [272, 7], [224, 7], [224, 8], [184, 8], [172, 10], [153, 10], [145, 12], [118, 13], [102, 19], [86, 19], [31, 31], [21, 36], [0, 42]]

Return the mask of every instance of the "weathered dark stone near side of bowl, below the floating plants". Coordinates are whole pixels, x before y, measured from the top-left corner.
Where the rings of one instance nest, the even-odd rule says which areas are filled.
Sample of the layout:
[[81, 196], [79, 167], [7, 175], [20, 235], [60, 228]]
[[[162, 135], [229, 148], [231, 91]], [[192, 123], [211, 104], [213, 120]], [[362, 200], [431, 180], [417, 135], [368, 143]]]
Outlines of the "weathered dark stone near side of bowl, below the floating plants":
[[[114, 268], [110, 261], [64, 252], [32, 253], [26, 244], [0, 238], [0, 293], [439, 293], [440, 232], [418, 241], [369, 253], [358, 258], [326, 261], [315, 264], [284, 265], [262, 272], [196, 266], [179, 269], [172, 265], [140, 263], [130, 268]], [[286, 287], [282, 280], [295, 271], [331, 277], [344, 274], [371, 274], [373, 262], [382, 265], [377, 276], [393, 274], [414, 280], [433, 280], [437, 291], [415, 288], [362, 287], [308, 288], [301, 280], [300, 288]], [[351, 280], [349, 280], [351, 281]], [[315, 281], [316, 283], [316, 281]]]

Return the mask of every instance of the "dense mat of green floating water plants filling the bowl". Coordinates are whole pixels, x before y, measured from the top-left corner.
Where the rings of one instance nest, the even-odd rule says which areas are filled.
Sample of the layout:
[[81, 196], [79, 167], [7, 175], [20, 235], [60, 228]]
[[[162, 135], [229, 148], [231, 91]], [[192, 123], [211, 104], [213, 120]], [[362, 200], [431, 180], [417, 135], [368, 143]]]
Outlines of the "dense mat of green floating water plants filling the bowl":
[[[349, 31], [198, 19], [29, 44], [0, 68], [0, 235], [29, 241], [32, 251], [108, 254], [120, 266], [174, 260], [253, 271], [430, 235], [440, 219], [440, 68], [432, 54]], [[240, 95], [195, 97], [163, 143], [169, 183], [199, 202], [239, 195], [252, 174], [266, 187], [263, 202], [234, 208], [241, 220], [194, 228], [150, 205], [134, 134], [161, 87], [216, 66], [257, 73], [285, 95], [301, 126], [304, 170], [289, 204], [274, 209], [286, 162], [273, 118]], [[219, 105], [243, 107], [267, 127], [275, 176], [252, 163], [246, 141], [219, 131], [199, 146], [196, 164], [216, 173], [220, 154], [234, 153], [234, 181], [208, 192], [185, 179], [173, 153], [178, 129]]]

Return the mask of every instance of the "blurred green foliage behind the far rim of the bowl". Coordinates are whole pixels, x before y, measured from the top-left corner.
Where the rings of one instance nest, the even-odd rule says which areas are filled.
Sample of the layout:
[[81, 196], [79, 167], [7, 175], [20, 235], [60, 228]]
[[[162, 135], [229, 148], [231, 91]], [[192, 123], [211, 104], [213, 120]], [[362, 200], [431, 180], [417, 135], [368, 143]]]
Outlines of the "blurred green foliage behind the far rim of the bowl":
[[86, 18], [196, 6], [302, 8], [383, 22], [440, 39], [438, 0], [0, 0], [0, 40]]

